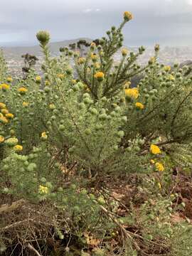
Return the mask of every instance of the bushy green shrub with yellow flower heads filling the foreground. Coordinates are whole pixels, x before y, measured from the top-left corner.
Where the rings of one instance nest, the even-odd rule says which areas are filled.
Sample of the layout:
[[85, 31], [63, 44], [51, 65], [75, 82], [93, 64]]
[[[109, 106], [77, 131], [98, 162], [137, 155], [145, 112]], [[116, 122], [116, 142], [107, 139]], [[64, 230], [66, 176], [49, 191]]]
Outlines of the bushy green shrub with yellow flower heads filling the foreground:
[[[82, 255], [137, 255], [142, 250], [145, 255], [181, 255], [191, 250], [188, 219], [177, 224], [171, 219], [183, 211], [181, 202], [173, 207], [178, 198], [172, 193], [174, 168], [191, 166], [191, 70], [160, 65], [158, 45], [141, 67], [137, 58], [144, 47], [138, 53], [122, 48], [122, 28], [131, 19], [125, 12], [119, 28], [86, 44], [83, 57], [62, 48], [60, 57], [52, 58], [49, 33], [38, 32], [43, 75], [30, 69], [14, 85], [0, 56], [0, 193], [28, 202], [31, 208], [23, 208], [23, 214], [45, 218], [43, 240], [60, 240], [65, 253], [74, 240]], [[120, 48], [122, 59], [115, 63]], [[136, 75], [142, 79], [132, 87]], [[139, 191], [139, 209], [133, 198], [126, 206], [106, 189], [107, 178], [121, 177], [124, 183], [131, 175], [137, 177], [132, 189]], [[36, 211], [41, 205], [46, 212]], [[28, 217], [28, 227], [34, 218]], [[5, 222], [1, 250], [9, 246], [7, 227], [13, 241], [21, 238], [26, 248], [32, 231], [27, 239], [22, 235], [26, 226], [13, 235], [12, 221]], [[35, 228], [42, 223], [36, 221]], [[176, 245], [181, 233], [186, 241], [182, 252]]]

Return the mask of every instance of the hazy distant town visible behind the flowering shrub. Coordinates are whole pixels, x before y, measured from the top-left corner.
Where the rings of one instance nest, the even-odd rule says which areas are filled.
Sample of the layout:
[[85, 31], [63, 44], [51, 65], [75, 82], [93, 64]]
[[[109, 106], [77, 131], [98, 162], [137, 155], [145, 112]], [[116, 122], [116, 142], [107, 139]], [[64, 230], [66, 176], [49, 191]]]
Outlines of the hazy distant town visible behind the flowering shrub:
[[[63, 41], [58, 43], [50, 43], [50, 50], [53, 56], [59, 55], [59, 48], [68, 46], [74, 41]], [[127, 47], [129, 51], [137, 52], [137, 47]], [[23, 58], [21, 55], [25, 53], [30, 53], [36, 55], [38, 61], [36, 62], [37, 72], [41, 72], [41, 63], [43, 61], [43, 55], [41, 49], [38, 46], [33, 47], [7, 47], [2, 48], [4, 50], [4, 56], [6, 58], [6, 63], [10, 69], [10, 72], [13, 75], [20, 75], [22, 73], [23, 67]], [[145, 65], [149, 58], [154, 55], [154, 48], [146, 47], [146, 50], [143, 55], [139, 57], [139, 64]], [[117, 62], [121, 58], [121, 53], [116, 53], [114, 55], [114, 60]], [[170, 47], [166, 46], [161, 48], [159, 52], [159, 63], [164, 63], [165, 65], [174, 65], [174, 63], [191, 63], [192, 60], [192, 46], [179, 46], [179, 47]]]

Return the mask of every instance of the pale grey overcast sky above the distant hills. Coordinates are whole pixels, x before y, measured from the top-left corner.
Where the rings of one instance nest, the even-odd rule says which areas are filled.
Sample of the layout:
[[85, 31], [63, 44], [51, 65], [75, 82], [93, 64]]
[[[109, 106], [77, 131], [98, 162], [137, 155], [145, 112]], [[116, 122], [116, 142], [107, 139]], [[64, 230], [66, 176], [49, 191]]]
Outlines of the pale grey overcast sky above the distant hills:
[[34, 45], [36, 32], [51, 41], [98, 38], [122, 13], [134, 19], [124, 28], [127, 46], [192, 46], [192, 0], [0, 0], [0, 45]]

